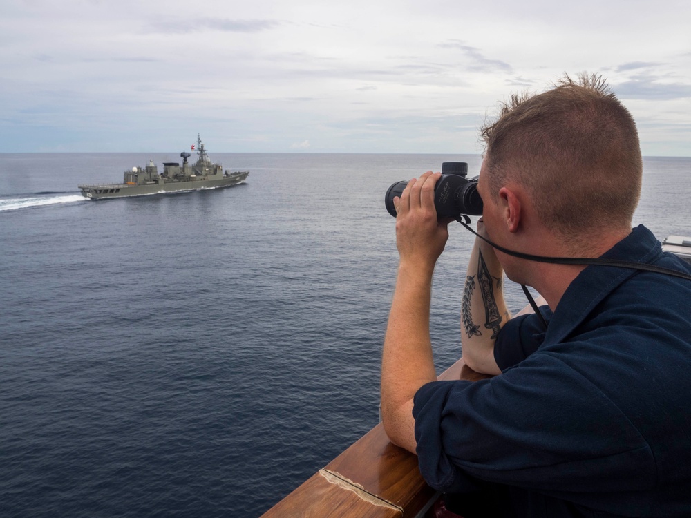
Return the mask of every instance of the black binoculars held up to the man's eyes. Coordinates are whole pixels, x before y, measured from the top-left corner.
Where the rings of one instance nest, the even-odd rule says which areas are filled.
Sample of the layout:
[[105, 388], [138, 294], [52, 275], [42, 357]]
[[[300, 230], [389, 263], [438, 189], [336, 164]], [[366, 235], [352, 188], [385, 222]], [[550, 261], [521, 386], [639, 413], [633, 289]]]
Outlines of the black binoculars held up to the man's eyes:
[[[434, 206], [437, 218], [453, 218], [458, 220], [461, 215], [482, 215], [482, 198], [477, 192], [477, 176], [466, 180], [468, 164], [466, 162], [444, 162], [442, 164], [442, 178], [434, 186]], [[408, 182], [396, 182], [386, 191], [384, 204], [386, 210], [394, 218], [396, 208], [393, 199], [401, 196]]]

